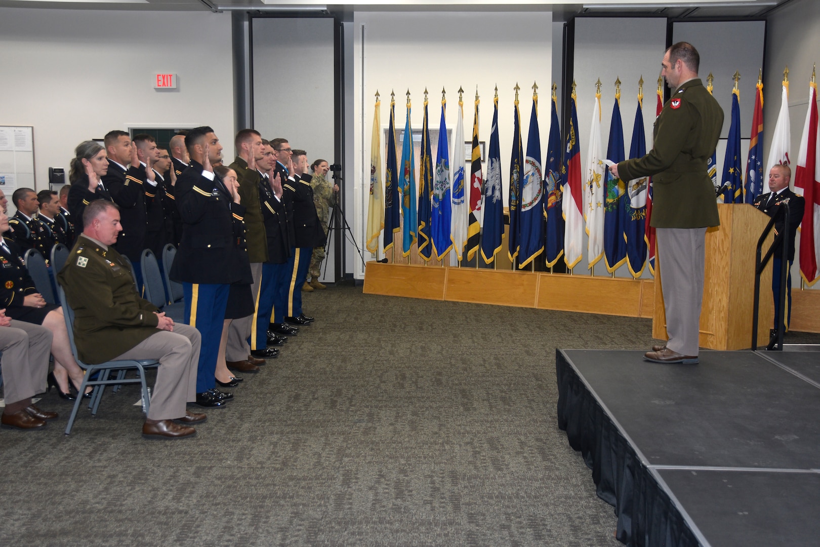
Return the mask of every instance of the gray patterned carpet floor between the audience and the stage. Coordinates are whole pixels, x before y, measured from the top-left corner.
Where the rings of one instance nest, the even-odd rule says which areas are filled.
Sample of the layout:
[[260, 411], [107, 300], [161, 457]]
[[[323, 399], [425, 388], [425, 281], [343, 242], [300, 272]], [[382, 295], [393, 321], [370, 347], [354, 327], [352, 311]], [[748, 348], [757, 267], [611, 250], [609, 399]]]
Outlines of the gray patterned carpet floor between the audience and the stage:
[[0, 545], [621, 545], [555, 420], [554, 351], [642, 349], [650, 321], [363, 295], [210, 411], [146, 441], [133, 385], [98, 417], [53, 392], [0, 432]]

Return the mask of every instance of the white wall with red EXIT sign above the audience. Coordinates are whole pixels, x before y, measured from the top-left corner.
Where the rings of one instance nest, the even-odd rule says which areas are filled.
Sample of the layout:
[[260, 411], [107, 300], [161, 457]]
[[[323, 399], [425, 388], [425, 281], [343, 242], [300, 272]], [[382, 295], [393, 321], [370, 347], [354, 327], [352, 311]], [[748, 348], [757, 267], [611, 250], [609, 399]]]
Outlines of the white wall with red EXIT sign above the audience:
[[[0, 7], [0, 52], [0, 125], [34, 126], [38, 190], [114, 129], [211, 125], [233, 157], [229, 15]], [[158, 72], [179, 89], [153, 89]]]

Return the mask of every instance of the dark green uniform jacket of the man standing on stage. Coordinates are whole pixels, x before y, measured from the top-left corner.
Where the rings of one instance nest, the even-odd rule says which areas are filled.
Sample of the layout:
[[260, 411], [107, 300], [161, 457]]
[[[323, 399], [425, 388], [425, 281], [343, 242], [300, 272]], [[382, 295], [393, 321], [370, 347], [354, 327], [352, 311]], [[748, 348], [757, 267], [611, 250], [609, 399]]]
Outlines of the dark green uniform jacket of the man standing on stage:
[[689, 80], [655, 119], [654, 144], [644, 157], [617, 165], [621, 180], [652, 176], [654, 228], [717, 226], [717, 199], [706, 162], [715, 151], [723, 110], [704, 84]]

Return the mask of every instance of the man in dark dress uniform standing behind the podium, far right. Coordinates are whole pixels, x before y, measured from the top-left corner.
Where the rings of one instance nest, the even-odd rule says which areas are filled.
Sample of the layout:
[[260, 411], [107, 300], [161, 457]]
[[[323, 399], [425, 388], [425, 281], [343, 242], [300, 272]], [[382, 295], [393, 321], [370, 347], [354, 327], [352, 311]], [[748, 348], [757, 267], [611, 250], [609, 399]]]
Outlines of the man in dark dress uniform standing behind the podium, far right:
[[[799, 196], [789, 189], [789, 181], [791, 180], [791, 168], [787, 165], [772, 166], [769, 171], [769, 189], [772, 190], [768, 194], [760, 194], [754, 199], [754, 207], [765, 212], [769, 217], [774, 217], [774, 231], [775, 234], [782, 234], [786, 230], [786, 211], [781, 207], [781, 203], [789, 204], [789, 226], [784, 239], [788, 248], [786, 249], [787, 257], [789, 258], [789, 266], [787, 267], [786, 276], [786, 317], [784, 317], [783, 326], [784, 332], [789, 330], [789, 323], [791, 321], [791, 265], [795, 262], [795, 235], [797, 234], [797, 227], [800, 226], [800, 221], [803, 221], [803, 211], [806, 206], [806, 200], [803, 196]], [[781, 267], [783, 262], [783, 243], [774, 249], [772, 255], [772, 294], [774, 296], [774, 328], [771, 335], [777, 334], [777, 328], [780, 326], [780, 284], [781, 284]]]

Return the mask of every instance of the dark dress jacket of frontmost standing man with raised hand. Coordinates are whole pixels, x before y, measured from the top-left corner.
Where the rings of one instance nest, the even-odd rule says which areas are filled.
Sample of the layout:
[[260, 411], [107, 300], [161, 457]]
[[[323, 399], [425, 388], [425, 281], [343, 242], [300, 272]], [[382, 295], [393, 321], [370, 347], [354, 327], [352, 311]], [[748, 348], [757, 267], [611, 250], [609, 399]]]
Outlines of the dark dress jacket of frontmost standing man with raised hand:
[[242, 280], [245, 208], [233, 203], [220, 178], [208, 179], [202, 164], [191, 162], [176, 180], [175, 202], [183, 229], [171, 279], [192, 284]]

